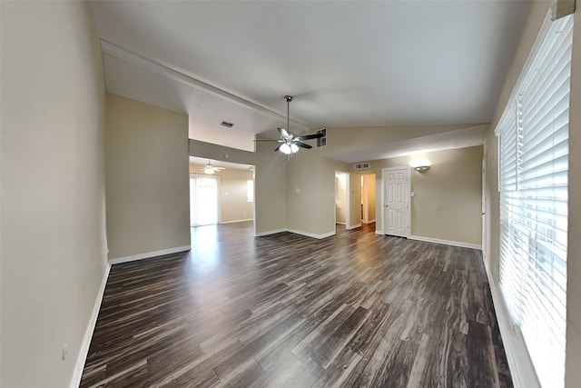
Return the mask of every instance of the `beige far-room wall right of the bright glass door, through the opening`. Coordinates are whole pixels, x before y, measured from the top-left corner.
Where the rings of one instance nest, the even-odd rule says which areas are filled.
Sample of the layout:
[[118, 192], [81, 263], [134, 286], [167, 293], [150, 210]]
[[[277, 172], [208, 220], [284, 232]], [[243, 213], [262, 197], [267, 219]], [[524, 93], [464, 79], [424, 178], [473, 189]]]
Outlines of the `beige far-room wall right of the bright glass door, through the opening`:
[[[203, 164], [190, 164], [192, 173], [202, 173]], [[254, 203], [248, 202], [247, 181], [254, 180], [254, 172], [226, 168], [220, 174], [220, 223], [231, 223], [254, 218]]]

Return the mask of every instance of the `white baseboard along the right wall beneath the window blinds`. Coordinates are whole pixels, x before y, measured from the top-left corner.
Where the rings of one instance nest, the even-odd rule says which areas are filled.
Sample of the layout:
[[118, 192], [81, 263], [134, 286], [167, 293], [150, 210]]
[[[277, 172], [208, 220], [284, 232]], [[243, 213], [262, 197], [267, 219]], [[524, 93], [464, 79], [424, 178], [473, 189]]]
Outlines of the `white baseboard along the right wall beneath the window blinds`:
[[507, 354], [508, 369], [515, 388], [540, 388], [537, 373], [528, 355], [525, 340], [518, 329], [511, 323], [507, 305], [502, 299], [502, 294], [495, 284], [490, 268], [484, 266], [487, 272], [488, 285], [492, 295], [492, 303], [497, 314], [500, 336]]

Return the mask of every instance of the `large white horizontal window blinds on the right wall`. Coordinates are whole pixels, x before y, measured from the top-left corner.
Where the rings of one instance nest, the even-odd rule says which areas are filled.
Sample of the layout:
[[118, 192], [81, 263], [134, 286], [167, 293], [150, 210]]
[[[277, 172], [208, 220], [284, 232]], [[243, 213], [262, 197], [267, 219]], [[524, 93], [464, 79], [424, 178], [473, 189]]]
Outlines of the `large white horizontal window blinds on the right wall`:
[[563, 386], [573, 17], [552, 23], [499, 135], [500, 287], [544, 387]]

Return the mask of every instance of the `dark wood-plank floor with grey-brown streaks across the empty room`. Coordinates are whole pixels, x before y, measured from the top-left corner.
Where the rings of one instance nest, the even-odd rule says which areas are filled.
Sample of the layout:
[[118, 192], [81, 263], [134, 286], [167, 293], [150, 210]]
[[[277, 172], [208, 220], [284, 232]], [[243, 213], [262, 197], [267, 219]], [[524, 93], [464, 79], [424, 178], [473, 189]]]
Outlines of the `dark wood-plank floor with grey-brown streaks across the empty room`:
[[113, 265], [81, 386], [512, 386], [481, 253], [374, 230]]

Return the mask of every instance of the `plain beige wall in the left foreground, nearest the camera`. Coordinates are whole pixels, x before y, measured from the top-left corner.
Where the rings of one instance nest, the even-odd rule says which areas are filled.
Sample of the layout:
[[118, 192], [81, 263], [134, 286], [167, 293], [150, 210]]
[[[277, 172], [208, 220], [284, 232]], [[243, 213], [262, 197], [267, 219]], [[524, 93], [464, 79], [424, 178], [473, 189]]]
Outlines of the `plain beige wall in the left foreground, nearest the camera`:
[[103, 60], [86, 4], [0, 7], [0, 386], [66, 387], [106, 268]]

